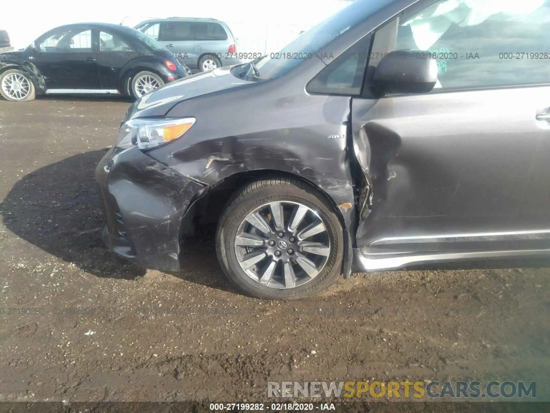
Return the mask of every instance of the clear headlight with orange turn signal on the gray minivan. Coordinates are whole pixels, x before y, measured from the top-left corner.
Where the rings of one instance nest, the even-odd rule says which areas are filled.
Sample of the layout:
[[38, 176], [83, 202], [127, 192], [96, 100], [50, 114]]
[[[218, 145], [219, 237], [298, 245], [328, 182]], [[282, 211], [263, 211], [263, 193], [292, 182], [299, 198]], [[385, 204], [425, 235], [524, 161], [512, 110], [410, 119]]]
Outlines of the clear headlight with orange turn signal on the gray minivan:
[[155, 148], [182, 136], [195, 121], [195, 118], [131, 119], [120, 127], [117, 147], [138, 145], [139, 149]]

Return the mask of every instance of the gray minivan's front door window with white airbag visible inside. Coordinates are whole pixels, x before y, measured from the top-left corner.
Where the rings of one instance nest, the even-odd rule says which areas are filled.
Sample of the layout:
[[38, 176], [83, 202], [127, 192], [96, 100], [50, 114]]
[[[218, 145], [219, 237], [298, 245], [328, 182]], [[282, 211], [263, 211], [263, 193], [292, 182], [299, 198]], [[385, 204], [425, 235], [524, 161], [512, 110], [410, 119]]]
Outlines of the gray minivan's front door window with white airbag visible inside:
[[436, 89], [550, 83], [548, 0], [441, 0], [384, 30], [372, 52], [418, 50], [417, 58], [436, 59]]

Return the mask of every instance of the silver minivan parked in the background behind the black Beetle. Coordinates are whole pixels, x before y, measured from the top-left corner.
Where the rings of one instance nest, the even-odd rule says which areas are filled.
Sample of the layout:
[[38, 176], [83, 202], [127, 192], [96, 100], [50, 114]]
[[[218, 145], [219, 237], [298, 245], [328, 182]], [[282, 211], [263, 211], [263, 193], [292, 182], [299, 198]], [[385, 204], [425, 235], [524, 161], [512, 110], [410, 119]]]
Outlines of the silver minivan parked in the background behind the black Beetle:
[[223, 21], [172, 17], [142, 21], [135, 28], [200, 72], [240, 63], [237, 39]]

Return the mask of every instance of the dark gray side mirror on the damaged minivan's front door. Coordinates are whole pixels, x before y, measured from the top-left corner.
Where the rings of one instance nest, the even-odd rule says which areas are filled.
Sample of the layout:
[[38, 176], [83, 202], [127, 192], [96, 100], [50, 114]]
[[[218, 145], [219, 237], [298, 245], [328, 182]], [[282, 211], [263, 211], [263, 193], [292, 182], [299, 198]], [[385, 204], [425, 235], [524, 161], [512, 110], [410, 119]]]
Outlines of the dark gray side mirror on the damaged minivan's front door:
[[389, 52], [376, 67], [373, 83], [381, 93], [428, 93], [437, 83], [437, 62], [428, 52]]

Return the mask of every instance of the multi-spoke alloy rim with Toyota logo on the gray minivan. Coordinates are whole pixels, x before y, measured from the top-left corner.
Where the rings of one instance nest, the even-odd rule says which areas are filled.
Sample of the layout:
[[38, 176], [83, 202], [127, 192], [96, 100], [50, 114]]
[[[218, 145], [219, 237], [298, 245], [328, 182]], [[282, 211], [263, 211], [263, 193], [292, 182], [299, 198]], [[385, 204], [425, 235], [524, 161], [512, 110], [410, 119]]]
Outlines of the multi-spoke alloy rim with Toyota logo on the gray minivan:
[[331, 253], [327, 225], [320, 214], [289, 201], [264, 204], [246, 215], [234, 247], [246, 275], [274, 289], [312, 281]]

